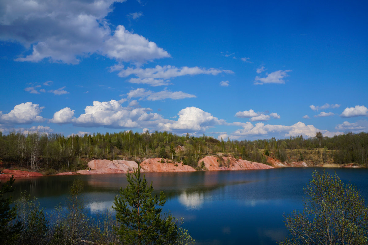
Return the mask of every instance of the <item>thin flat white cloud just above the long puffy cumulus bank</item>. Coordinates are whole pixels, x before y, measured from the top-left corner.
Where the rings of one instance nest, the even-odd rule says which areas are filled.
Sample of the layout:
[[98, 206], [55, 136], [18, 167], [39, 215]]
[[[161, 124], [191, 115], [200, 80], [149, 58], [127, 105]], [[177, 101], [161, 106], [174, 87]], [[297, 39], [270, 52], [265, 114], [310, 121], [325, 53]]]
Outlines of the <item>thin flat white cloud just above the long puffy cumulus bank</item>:
[[184, 93], [181, 91], [171, 92], [165, 89], [160, 92], [153, 92], [151, 90], [145, 90], [143, 88], [138, 88], [135, 90], [130, 90], [130, 92], [127, 93], [127, 97], [128, 99], [131, 99], [134, 97], [140, 97], [139, 100], [146, 99], [146, 100], [154, 101], [154, 100], [164, 100], [164, 99], [178, 100], [178, 99], [184, 99], [184, 98], [195, 98], [197, 96], [191, 95], [189, 93]]

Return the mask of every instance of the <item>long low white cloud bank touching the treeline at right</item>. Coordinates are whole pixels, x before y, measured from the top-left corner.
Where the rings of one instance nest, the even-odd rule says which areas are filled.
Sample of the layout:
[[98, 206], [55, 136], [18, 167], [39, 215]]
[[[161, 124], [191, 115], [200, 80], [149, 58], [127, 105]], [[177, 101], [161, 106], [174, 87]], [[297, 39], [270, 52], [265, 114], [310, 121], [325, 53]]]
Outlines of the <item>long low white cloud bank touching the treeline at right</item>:
[[270, 133], [281, 133], [284, 137], [304, 135], [307, 137], [314, 137], [316, 132], [322, 132], [324, 136], [332, 137], [334, 135], [340, 135], [342, 132], [330, 132], [328, 130], [322, 130], [314, 127], [313, 125], [305, 125], [298, 122], [291, 126], [284, 125], [271, 125], [264, 123], [256, 123], [253, 125], [250, 122], [247, 123], [233, 123], [233, 125], [241, 126], [241, 129], [234, 131], [230, 135], [230, 139], [239, 139], [244, 136], [267, 136]]

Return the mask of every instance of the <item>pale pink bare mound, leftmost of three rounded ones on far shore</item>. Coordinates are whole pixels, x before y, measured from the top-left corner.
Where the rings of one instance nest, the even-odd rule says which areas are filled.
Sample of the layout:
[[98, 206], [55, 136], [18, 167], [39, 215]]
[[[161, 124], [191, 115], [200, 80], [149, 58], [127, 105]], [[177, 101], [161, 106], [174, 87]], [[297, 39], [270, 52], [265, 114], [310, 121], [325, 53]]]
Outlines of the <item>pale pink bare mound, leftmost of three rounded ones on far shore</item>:
[[138, 164], [135, 161], [125, 160], [92, 160], [88, 163], [91, 170], [79, 170], [78, 174], [112, 174], [112, 173], [127, 173], [137, 168]]

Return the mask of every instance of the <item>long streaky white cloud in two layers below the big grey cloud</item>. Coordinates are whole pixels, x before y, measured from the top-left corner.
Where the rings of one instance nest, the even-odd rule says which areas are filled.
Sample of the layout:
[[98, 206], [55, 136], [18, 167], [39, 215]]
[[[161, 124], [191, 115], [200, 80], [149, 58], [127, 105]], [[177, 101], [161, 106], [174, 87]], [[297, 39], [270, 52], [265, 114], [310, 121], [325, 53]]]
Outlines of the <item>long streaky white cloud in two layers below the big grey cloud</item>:
[[217, 75], [219, 73], [232, 74], [233, 71], [229, 70], [219, 70], [215, 68], [200, 68], [200, 67], [175, 67], [171, 65], [156, 65], [155, 68], [132, 68], [128, 67], [121, 70], [118, 73], [119, 77], [128, 77], [134, 75], [136, 78], [131, 78], [128, 82], [135, 84], [148, 84], [150, 86], [160, 86], [170, 84], [170, 78], [185, 76], [185, 75], [198, 75], [198, 74], [208, 74]]

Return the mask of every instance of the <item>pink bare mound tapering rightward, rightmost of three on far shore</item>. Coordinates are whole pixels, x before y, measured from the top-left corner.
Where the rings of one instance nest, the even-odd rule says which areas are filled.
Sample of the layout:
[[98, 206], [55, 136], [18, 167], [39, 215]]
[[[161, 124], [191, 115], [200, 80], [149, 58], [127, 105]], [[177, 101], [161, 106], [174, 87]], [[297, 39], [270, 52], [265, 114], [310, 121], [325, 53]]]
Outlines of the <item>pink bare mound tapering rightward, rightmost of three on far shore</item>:
[[199, 167], [202, 166], [202, 161], [204, 162], [204, 167], [206, 167], [210, 171], [273, 168], [272, 166], [263, 163], [256, 163], [242, 159], [235, 159], [234, 157], [206, 156], [198, 161]]

